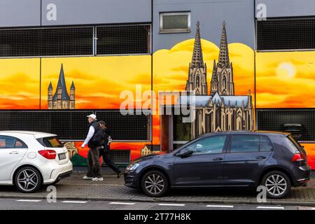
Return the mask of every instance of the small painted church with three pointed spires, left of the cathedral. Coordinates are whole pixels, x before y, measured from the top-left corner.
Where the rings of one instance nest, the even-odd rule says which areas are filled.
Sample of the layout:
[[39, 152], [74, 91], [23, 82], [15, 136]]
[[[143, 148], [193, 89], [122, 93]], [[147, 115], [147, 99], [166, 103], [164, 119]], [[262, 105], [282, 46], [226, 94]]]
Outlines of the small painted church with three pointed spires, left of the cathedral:
[[76, 104], [76, 87], [72, 81], [70, 87], [70, 96], [66, 90], [66, 80], [64, 78], [64, 67], [61, 65], [58, 84], [53, 94], [53, 87], [51, 82], [48, 86], [48, 110], [66, 110], [75, 109]]

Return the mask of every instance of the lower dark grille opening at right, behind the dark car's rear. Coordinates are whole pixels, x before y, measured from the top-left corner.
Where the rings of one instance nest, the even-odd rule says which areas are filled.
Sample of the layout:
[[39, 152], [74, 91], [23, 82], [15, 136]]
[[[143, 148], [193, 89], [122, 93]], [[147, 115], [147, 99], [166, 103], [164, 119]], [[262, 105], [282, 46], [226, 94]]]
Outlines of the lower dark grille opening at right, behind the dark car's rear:
[[315, 109], [258, 109], [258, 130], [290, 132], [297, 141], [315, 141]]

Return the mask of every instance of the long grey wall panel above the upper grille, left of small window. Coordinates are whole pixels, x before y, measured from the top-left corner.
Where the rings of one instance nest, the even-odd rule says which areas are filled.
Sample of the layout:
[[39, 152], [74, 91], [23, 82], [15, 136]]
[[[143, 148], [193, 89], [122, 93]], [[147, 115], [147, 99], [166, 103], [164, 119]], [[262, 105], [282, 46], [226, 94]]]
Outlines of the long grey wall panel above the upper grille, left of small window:
[[[57, 8], [56, 20], [48, 20], [48, 4]], [[88, 25], [151, 22], [151, 0], [42, 0], [42, 25]]]

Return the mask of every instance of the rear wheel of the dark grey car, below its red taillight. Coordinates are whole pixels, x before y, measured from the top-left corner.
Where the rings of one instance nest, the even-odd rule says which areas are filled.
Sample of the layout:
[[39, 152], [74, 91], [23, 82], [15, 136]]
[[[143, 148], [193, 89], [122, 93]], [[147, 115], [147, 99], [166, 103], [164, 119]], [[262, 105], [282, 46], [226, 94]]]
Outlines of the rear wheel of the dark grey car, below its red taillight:
[[288, 196], [291, 190], [291, 183], [288, 176], [283, 172], [273, 171], [262, 178], [262, 186], [265, 186], [267, 197], [280, 199]]

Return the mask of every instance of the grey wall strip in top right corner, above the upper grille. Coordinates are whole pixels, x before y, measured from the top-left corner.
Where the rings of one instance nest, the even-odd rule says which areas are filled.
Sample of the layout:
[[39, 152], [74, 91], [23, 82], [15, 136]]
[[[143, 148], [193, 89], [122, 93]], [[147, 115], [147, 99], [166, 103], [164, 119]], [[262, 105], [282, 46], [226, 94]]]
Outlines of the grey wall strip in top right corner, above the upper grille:
[[315, 15], [314, 0], [255, 0], [256, 17], [260, 3], [267, 8], [267, 18]]

